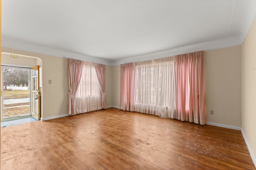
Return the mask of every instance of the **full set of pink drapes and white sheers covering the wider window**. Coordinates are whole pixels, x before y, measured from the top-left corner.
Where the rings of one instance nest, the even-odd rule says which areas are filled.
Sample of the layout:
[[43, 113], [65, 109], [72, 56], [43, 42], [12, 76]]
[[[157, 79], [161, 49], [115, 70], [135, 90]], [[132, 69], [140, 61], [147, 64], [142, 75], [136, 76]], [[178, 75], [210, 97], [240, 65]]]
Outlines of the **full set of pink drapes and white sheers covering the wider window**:
[[207, 122], [204, 51], [121, 64], [119, 109]]

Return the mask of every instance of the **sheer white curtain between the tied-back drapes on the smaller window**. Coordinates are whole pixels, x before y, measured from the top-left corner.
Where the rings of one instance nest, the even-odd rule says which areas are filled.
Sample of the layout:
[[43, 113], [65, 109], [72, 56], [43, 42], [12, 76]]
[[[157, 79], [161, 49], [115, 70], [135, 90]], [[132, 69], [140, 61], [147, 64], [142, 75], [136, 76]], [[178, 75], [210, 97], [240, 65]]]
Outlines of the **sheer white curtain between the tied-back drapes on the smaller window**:
[[94, 63], [84, 62], [82, 76], [75, 97], [76, 113], [102, 109], [102, 94]]

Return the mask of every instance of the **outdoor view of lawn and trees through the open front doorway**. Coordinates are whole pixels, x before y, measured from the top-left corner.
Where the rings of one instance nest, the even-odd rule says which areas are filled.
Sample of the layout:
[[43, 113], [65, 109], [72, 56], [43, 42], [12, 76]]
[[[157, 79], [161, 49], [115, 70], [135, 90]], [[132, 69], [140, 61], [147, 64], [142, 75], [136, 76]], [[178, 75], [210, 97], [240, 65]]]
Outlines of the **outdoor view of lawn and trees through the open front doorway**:
[[30, 69], [2, 66], [2, 119], [30, 115]]

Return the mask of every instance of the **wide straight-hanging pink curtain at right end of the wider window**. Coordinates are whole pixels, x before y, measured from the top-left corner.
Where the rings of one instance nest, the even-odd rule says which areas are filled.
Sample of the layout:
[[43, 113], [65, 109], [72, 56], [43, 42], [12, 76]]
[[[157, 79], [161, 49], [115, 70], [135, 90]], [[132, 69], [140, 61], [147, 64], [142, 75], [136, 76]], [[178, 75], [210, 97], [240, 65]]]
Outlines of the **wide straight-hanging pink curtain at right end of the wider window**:
[[207, 122], [204, 51], [174, 56], [176, 118], [204, 125]]

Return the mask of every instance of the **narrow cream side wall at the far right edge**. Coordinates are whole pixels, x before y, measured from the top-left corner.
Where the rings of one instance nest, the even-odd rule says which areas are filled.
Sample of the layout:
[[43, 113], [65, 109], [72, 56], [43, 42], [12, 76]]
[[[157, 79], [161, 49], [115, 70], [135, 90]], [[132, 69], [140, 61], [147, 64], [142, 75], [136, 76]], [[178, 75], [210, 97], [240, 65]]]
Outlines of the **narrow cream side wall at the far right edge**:
[[256, 165], [256, 20], [242, 45], [242, 129]]

